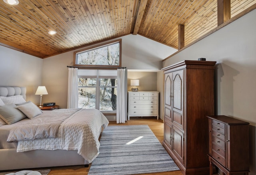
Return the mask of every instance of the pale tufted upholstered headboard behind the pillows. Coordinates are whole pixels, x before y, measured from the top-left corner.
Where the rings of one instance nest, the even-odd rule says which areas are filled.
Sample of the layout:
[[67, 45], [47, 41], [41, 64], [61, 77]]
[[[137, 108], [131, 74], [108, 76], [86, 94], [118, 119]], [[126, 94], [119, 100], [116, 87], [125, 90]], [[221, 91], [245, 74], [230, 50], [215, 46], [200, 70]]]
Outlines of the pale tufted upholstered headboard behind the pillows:
[[0, 96], [22, 95], [26, 100], [26, 87], [0, 87]]

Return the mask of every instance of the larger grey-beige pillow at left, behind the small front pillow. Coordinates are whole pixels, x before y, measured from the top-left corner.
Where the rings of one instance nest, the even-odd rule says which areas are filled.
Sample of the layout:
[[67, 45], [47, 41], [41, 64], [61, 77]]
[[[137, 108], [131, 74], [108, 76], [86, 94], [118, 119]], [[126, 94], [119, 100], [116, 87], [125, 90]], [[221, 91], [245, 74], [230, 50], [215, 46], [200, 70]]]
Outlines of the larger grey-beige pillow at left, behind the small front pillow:
[[0, 106], [0, 118], [10, 125], [26, 118], [26, 115], [17, 109], [16, 105], [8, 104]]

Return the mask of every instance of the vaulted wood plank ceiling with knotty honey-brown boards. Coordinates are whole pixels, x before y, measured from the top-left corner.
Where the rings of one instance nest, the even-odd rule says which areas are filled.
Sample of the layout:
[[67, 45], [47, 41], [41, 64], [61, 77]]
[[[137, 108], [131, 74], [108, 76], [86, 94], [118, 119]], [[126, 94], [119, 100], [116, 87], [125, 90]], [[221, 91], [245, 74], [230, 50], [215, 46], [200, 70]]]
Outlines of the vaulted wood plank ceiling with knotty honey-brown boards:
[[[231, 18], [255, 4], [231, 0]], [[178, 48], [179, 24], [194, 42], [217, 27], [217, 0], [0, 0], [0, 45], [39, 58], [127, 34]]]

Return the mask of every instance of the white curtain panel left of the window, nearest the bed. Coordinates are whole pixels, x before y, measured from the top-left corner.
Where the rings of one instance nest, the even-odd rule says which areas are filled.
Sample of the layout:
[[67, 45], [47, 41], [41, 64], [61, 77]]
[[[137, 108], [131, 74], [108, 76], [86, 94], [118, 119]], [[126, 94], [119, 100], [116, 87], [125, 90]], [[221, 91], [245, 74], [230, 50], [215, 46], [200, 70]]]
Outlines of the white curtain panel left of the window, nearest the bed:
[[68, 108], [78, 108], [78, 68], [68, 68]]

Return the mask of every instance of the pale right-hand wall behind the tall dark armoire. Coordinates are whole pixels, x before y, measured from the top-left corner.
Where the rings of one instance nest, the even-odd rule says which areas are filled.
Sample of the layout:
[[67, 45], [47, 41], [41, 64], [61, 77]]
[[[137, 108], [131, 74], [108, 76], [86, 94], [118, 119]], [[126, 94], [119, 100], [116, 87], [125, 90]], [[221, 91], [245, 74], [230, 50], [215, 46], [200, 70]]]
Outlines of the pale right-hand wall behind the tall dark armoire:
[[[250, 175], [256, 174], [256, 10], [163, 62], [216, 61], [216, 115], [250, 122]], [[185, 27], [186, 30], [186, 27]]]

